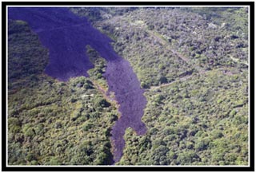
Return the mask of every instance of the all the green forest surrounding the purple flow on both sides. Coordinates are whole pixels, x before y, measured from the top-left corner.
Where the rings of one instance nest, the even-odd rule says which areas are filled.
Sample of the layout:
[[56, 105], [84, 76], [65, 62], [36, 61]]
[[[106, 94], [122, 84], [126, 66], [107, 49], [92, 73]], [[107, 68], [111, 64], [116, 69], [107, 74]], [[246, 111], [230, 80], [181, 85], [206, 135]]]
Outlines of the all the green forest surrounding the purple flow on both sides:
[[[126, 129], [116, 165], [248, 164], [246, 8], [70, 8], [113, 39], [147, 105], [144, 136]], [[113, 163], [118, 103], [106, 96], [106, 61], [87, 45], [90, 77], [61, 82], [26, 22], [8, 23], [8, 163]]]

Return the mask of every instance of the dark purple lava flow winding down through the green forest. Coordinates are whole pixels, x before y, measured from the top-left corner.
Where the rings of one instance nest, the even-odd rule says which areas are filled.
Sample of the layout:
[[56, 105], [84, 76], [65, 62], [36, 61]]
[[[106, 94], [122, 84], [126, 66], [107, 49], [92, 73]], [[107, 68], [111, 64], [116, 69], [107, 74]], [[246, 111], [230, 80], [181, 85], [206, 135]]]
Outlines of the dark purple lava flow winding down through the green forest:
[[93, 47], [106, 59], [108, 92], [115, 93], [122, 114], [111, 132], [114, 162], [118, 162], [125, 146], [123, 136], [126, 128], [134, 128], [138, 135], [146, 133], [146, 125], [141, 120], [146, 98], [130, 63], [114, 52], [109, 37], [94, 29], [86, 18], [76, 16], [67, 8], [9, 7], [8, 17], [28, 22], [31, 29], [38, 33], [42, 45], [50, 52], [45, 72], [59, 81], [88, 76], [87, 70], [94, 65], [86, 56], [86, 45]]

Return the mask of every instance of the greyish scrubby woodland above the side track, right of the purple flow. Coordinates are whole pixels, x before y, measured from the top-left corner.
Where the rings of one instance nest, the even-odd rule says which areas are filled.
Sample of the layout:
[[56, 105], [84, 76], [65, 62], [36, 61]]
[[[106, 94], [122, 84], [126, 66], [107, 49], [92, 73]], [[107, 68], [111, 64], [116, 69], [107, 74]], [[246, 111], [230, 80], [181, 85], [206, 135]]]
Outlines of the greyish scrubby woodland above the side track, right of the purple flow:
[[200, 15], [179, 8], [139, 8], [98, 18], [94, 26], [114, 39], [114, 48], [133, 65], [143, 88], [203, 70], [246, 68], [246, 9], [204, 11]]

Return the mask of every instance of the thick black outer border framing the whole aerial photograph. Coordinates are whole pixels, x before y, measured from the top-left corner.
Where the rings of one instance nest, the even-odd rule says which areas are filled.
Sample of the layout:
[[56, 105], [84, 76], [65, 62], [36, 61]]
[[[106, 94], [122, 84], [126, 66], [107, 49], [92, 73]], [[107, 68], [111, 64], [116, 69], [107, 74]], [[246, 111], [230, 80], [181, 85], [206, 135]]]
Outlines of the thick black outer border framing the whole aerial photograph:
[[[2, 171], [165, 171], [166, 167], [7, 167], [6, 165], [6, 7], [7, 6], [250, 6], [250, 167], [170, 167], [171, 171], [254, 171], [254, 2], [2, 2]], [[253, 92], [253, 93], [251, 93]], [[252, 96], [252, 97], [251, 97]], [[251, 99], [253, 98], [253, 100]], [[3, 153], [4, 151], [4, 153]], [[108, 170], [108, 168], [110, 168]], [[107, 168], [107, 169], [106, 169]], [[94, 170], [91, 170], [94, 169]], [[178, 169], [178, 170], [177, 170]], [[198, 170], [199, 169], [199, 170]]]

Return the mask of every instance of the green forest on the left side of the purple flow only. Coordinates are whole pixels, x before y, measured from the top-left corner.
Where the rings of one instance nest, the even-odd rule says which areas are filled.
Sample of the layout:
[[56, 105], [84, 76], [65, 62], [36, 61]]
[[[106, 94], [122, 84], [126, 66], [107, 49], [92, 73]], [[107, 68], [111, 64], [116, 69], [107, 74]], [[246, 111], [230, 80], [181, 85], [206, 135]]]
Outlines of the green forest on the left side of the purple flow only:
[[[104, 61], [94, 57], [91, 79], [76, 77], [64, 83], [42, 73], [47, 50], [25, 22], [9, 23], [8, 42], [9, 163], [111, 164], [110, 129], [118, 112], [98, 89], [104, 84], [100, 77]], [[26, 67], [12, 65], [16, 60]]]

